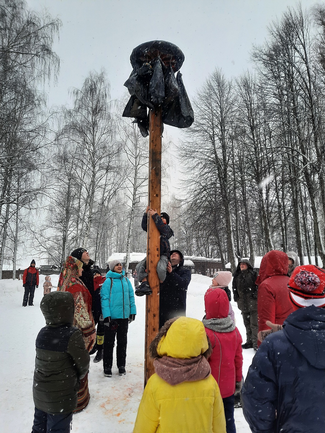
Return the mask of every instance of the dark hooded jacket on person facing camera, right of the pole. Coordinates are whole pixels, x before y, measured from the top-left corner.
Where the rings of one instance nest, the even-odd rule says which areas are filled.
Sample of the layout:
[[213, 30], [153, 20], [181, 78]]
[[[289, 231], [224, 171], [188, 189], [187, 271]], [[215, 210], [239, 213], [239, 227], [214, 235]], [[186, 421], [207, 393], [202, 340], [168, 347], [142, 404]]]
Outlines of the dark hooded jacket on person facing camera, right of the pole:
[[[240, 263], [246, 263], [248, 269], [240, 270]], [[242, 311], [257, 311], [257, 285], [255, 284], [258, 272], [248, 259], [241, 259], [237, 265], [232, 281], [234, 301]]]

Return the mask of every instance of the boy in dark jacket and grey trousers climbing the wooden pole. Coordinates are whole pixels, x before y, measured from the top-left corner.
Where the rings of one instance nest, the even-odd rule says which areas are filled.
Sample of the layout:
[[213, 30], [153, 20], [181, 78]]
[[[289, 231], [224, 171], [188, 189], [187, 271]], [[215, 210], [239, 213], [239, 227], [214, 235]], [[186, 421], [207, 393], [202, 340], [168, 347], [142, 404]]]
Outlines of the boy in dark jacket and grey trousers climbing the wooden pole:
[[[174, 236], [174, 232], [169, 227], [169, 215], [166, 212], [162, 212], [159, 216], [157, 210], [150, 209], [149, 206], [146, 208], [141, 223], [141, 227], [145, 232], [148, 230], [148, 213], [153, 218], [156, 227], [160, 232], [160, 259], [157, 265], [157, 274], [162, 283], [166, 278], [166, 268], [170, 259], [169, 239]], [[135, 291], [137, 296], [152, 294], [152, 290], [147, 281], [148, 274], [146, 272], [146, 262], [147, 259], [143, 259], [136, 265], [138, 281], [141, 283], [139, 288]]]

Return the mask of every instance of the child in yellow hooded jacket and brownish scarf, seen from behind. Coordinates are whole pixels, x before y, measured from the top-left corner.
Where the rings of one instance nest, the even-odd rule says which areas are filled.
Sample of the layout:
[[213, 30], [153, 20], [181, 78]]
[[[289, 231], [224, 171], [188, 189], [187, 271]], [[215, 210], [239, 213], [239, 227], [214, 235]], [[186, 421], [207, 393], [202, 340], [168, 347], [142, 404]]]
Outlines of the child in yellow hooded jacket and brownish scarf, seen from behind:
[[168, 320], [150, 345], [149, 378], [133, 433], [226, 433], [224, 407], [207, 358], [211, 343], [200, 320]]

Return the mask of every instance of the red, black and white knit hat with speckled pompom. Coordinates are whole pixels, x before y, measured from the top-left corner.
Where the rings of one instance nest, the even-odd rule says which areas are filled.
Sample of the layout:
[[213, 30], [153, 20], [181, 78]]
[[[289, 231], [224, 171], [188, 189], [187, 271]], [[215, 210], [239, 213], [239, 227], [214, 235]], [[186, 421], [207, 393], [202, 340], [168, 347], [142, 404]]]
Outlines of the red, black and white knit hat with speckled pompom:
[[297, 266], [288, 281], [291, 302], [298, 308], [325, 307], [325, 270], [315, 265]]

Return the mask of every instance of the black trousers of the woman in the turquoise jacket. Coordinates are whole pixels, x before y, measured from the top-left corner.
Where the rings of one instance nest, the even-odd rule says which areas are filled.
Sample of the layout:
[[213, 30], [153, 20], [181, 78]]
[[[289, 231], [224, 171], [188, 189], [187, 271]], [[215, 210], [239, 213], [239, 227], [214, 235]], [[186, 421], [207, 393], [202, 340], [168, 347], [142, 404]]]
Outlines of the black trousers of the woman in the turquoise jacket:
[[116, 364], [117, 368], [125, 367], [125, 361], [127, 359], [127, 330], [129, 328], [129, 319], [113, 319], [117, 323], [117, 329], [114, 329], [112, 323], [110, 326], [105, 327], [104, 336], [104, 351], [103, 351], [103, 366], [106, 368], [112, 368], [113, 365], [113, 349], [115, 346], [116, 336]]

